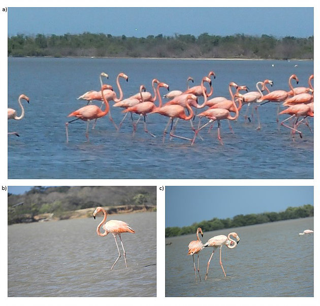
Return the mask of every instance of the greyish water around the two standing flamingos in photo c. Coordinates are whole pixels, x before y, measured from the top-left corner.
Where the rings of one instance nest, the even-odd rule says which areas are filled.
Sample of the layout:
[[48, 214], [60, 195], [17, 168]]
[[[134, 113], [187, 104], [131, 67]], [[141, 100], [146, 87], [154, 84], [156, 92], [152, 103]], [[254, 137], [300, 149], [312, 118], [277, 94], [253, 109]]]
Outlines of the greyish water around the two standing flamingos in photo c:
[[234, 249], [222, 247], [227, 277], [217, 249], [205, 280], [212, 248], [199, 253], [201, 282], [187, 255], [196, 234], [167, 238], [166, 296], [313, 296], [313, 234], [300, 236], [304, 229], [313, 229], [313, 217], [204, 232], [203, 243], [233, 231], [240, 242]]

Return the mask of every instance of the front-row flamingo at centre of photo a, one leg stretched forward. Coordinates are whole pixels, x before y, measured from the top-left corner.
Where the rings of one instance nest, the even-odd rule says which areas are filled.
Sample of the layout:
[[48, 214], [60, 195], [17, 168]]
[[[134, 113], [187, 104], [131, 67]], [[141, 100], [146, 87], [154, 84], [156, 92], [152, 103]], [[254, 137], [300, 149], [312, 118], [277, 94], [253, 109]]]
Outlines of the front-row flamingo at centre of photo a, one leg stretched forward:
[[[193, 98], [193, 95], [190, 94], [190, 95], [187, 95], [186, 96], [186, 99], [192, 99]], [[159, 100], [159, 106], [157, 108], [155, 108], [150, 114], [154, 114], [154, 113], [158, 113], [160, 115], [163, 115], [163, 116], [166, 116], [166, 117], [169, 117], [169, 121], [168, 121], [168, 124], [166, 125], [166, 128], [164, 129], [164, 132], [163, 132], [163, 143], [165, 142], [165, 137], [166, 137], [166, 133], [167, 133], [167, 129], [168, 129], [168, 126], [171, 122], [171, 128], [170, 128], [170, 137], [176, 137], [176, 138], [181, 138], [181, 139], [185, 139], [185, 140], [190, 140], [189, 138], [185, 138], [185, 137], [181, 137], [181, 136], [178, 136], [178, 135], [175, 135], [172, 133], [172, 125], [173, 125], [173, 119], [174, 118], [180, 118], [180, 119], [183, 119], [183, 120], [190, 120], [193, 116], [194, 116], [194, 112], [193, 110], [191, 109], [190, 105], [187, 103], [186, 104], [186, 109], [189, 111], [189, 115], [187, 116], [185, 114], [185, 108], [181, 105], [165, 105], [165, 106], [162, 106], [162, 100], [160, 99]]]

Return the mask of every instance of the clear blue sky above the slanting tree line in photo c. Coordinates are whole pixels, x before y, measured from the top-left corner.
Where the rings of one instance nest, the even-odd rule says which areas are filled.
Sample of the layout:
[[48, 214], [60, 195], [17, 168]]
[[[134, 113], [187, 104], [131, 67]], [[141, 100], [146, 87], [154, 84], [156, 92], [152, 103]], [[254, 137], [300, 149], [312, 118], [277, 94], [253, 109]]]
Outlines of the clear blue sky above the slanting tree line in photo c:
[[167, 186], [166, 227], [313, 205], [312, 186]]

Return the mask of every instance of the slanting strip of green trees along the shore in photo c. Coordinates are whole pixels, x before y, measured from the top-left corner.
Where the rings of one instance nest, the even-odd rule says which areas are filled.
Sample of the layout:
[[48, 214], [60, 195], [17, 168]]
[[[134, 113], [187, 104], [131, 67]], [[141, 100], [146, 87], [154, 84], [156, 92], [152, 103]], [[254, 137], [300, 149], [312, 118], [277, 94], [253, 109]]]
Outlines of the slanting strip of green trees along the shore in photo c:
[[260, 224], [266, 222], [274, 222], [287, 219], [306, 218], [313, 216], [313, 206], [310, 204], [300, 207], [288, 207], [284, 212], [280, 213], [262, 213], [262, 214], [249, 214], [237, 215], [232, 219], [218, 219], [213, 218], [209, 221], [202, 221], [194, 223], [190, 226], [183, 227], [167, 227], [166, 237], [178, 236], [195, 233], [198, 227], [203, 231], [217, 230], [230, 227], [246, 226], [252, 224]]

